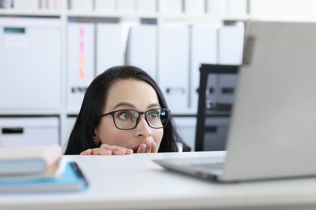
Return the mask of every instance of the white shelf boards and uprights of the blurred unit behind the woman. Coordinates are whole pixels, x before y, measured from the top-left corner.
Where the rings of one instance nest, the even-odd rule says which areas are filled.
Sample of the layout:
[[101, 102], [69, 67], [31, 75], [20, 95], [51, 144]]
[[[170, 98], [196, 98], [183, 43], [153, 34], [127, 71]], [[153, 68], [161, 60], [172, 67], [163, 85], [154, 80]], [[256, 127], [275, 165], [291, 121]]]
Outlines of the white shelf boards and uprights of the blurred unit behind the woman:
[[[60, 69], [60, 81], [61, 81], [61, 105], [60, 108], [56, 109], [0, 109], [0, 117], [7, 116], [58, 116], [60, 119], [60, 143], [64, 144], [69, 136], [70, 127], [68, 120], [71, 116], [76, 116], [79, 112], [78, 109], [69, 109], [67, 107], [67, 29], [69, 19], [110, 19], [115, 18], [118, 20], [124, 19], [151, 19], [156, 22], [157, 25], [157, 81], [164, 77], [160, 75], [160, 63], [161, 63], [161, 50], [160, 50], [160, 38], [161, 38], [161, 28], [170, 23], [181, 23], [181, 24], [194, 24], [194, 23], [209, 23], [209, 22], [220, 22], [224, 21], [245, 21], [249, 18], [248, 15], [212, 15], [212, 14], [201, 14], [201, 15], [168, 15], [161, 14], [159, 12], [153, 14], [139, 14], [139, 13], [122, 13], [122, 12], [111, 12], [103, 13], [99, 11], [72, 11], [68, 9], [67, 1], [62, 1], [62, 8], [60, 10], [15, 10], [15, 9], [0, 9], [0, 17], [37, 17], [37, 18], [48, 18], [54, 17], [61, 21], [61, 69]], [[158, 5], [159, 8], [159, 5]], [[1, 59], [1, 58], [0, 58]], [[1, 74], [4, 73], [4, 67], [1, 66]], [[5, 100], [5, 99], [0, 99]], [[1, 103], [1, 102], [0, 102]], [[195, 116], [197, 110], [173, 110], [173, 114], [176, 116]], [[45, 136], [42, 136], [43, 141]]]

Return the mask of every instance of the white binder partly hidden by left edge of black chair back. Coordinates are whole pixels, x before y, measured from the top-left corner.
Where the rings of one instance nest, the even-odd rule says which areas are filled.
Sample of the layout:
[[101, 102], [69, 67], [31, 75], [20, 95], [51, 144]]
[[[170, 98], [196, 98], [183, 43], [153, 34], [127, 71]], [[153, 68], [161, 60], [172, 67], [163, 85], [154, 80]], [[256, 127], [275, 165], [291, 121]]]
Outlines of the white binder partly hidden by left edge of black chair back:
[[198, 107], [198, 88], [200, 85], [200, 66], [202, 63], [216, 64], [218, 62], [218, 28], [212, 26], [191, 27], [191, 87], [190, 109]]

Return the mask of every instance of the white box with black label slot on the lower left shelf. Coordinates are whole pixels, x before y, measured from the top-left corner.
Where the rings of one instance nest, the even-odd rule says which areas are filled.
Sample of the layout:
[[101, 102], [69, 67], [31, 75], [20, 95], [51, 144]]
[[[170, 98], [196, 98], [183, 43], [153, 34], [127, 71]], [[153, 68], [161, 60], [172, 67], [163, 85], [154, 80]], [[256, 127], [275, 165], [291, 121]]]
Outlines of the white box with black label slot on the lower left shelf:
[[59, 143], [58, 117], [1, 117], [0, 147]]

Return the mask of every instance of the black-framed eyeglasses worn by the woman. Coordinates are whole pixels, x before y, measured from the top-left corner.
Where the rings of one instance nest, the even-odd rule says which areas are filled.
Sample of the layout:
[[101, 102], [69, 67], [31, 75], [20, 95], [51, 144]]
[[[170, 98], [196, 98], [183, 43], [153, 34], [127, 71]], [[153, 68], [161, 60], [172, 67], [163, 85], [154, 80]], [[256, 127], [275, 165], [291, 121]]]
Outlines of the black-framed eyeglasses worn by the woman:
[[150, 109], [145, 112], [139, 112], [132, 109], [122, 109], [107, 114], [101, 114], [100, 117], [112, 115], [115, 126], [121, 130], [130, 130], [137, 126], [140, 115], [145, 116], [147, 124], [152, 128], [163, 128], [168, 124], [169, 109]]

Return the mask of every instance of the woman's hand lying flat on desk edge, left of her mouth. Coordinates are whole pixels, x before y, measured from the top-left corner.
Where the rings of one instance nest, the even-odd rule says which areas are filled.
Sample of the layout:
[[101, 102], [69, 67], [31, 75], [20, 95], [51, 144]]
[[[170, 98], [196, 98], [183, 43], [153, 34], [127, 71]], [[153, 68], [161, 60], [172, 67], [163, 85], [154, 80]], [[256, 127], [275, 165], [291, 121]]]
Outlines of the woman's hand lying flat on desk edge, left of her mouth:
[[87, 149], [82, 151], [80, 155], [131, 155], [133, 150], [119, 147], [119, 146], [110, 146], [103, 144], [99, 148]]

